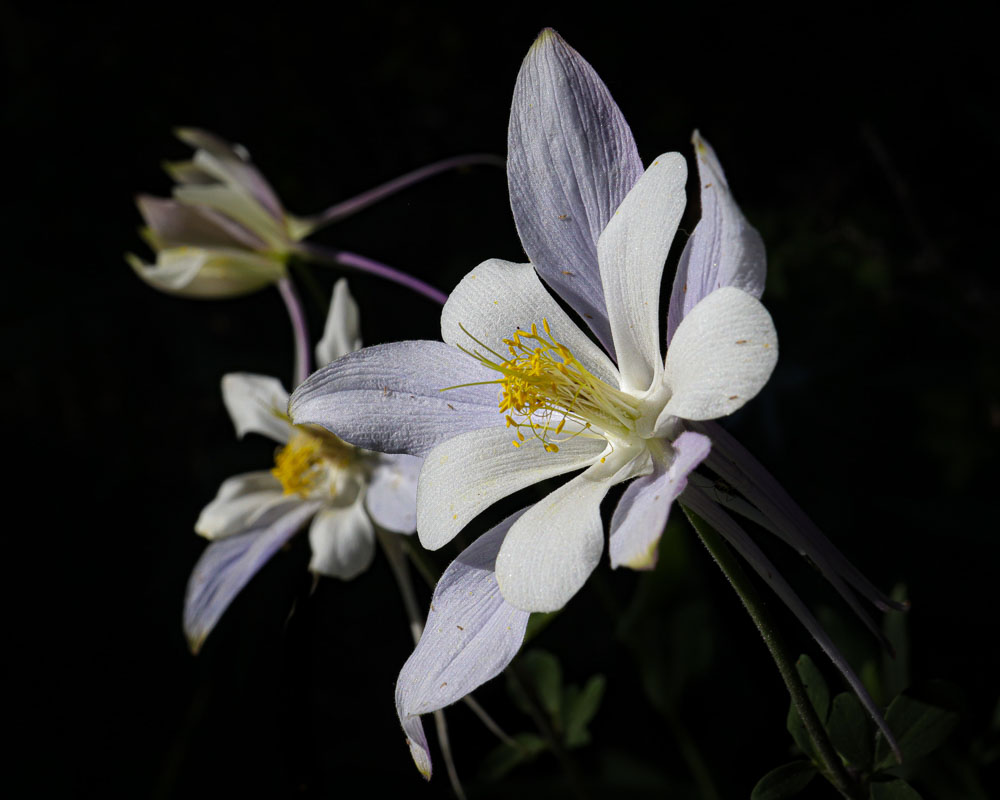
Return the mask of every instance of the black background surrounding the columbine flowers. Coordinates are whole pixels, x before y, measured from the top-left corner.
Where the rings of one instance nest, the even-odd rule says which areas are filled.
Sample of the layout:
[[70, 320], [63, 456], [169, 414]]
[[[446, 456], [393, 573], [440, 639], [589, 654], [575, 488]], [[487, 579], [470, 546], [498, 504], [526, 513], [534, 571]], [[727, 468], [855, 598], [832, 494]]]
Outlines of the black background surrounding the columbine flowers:
[[[876, 584], [906, 582], [914, 679], [962, 687], [959, 743], [986, 729], [1000, 675], [1000, 127], [985, 20], [960, 3], [735, 16], [690, 3], [463, 8], [2, 5], [19, 796], [449, 795], [440, 759], [425, 785], [398, 730], [392, 688], [410, 644], [381, 559], [310, 595], [299, 537], [202, 654], [188, 653], [181, 604], [204, 546], [194, 520], [223, 479], [272, 452], [235, 440], [219, 379], [287, 382], [291, 336], [277, 292], [176, 299], [122, 256], [146, 255], [132, 196], [168, 193], [158, 165], [188, 152], [175, 125], [245, 144], [299, 213], [438, 158], [502, 154], [518, 66], [545, 25], [608, 83], [644, 161], [689, 154], [695, 127], [716, 148], [768, 245], [764, 301], [782, 348], [730, 427]], [[688, 231], [693, 198], [691, 209]], [[505, 180], [485, 167], [319, 240], [444, 290], [488, 257], [522, 258]], [[328, 287], [335, 274], [319, 277]], [[365, 276], [351, 288], [366, 343], [435, 337], [428, 301]], [[317, 331], [321, 307], [309, 311]], [[747, 796], [789, 758], [787, 697], [721, 575], [689, 549], [718, 634], [682, 716], [723, 796]], [[836, 606], [807, 565], [780, 564], [807, 599]], [[638, 788], [615, 784], [615, 796], [668, 784], [685, 796], [684, 763], [605, 613], [637, 580], [602, 565], [538, 644], [567, 680], [608, 677], [594, 742], [578, 754], [595, 795], [631, 771]], [[793, 647], [818, 660], [787, 622]], [[505, 727], [530, 727], [502, 680], [479, 696]], [[551, 758], [477, 782], [493, 742], [464, 708], [450, 720], [470, 796], [561, 796]]]

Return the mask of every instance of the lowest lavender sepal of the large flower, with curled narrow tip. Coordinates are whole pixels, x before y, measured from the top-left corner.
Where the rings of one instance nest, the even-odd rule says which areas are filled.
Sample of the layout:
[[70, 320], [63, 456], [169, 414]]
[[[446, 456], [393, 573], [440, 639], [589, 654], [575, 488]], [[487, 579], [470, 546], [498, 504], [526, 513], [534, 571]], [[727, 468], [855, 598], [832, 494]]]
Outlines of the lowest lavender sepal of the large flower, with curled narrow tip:
[[423, 635], [399, 673], [396, 712], [426, 777], [431, 760], [419, 715], [444, 708], [499, 675], [524, 641], [530, 614], [503, 599], [494, 567], [504, 536], [525, 510], [480, 536], [444, 571]]

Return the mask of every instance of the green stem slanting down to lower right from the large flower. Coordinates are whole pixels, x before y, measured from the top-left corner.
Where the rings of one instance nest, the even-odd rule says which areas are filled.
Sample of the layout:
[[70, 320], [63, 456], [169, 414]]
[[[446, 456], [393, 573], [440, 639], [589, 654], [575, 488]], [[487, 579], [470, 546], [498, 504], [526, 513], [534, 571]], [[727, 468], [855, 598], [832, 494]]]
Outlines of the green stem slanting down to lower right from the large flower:
[[768, 613], [767, 606], [757, 589], [750, 582], [743, 567], [740, 566], [739, 561], [736, 560], [732, 551], [715, 529], [690, 509], [685, 508], [684, 512], [691, 521], [695, 532], [708, 548], [708, 552], [715, 559], [715, 563], [719, 565], [719, 569], [722, 570], [736, 594], [739, 595], [743, 607], [746, 608], [750, 619], [753, 620], [761, 637], [763, 637], [764, 644], [767, 645], [767, 649], [778, 667], [778, 672], [781, 674], [781, 679], [788, 689], [788, 694], [792, 698], [792, 704], [802, 718], [802, 724], [812, 741], [813, 749], [820, 761], [823, 762], [821, 768], [823, 776], [848, 800], [861, 800], [857, 784], [844, 768], [840, 756], [837, 755], [837, 751], [831, 744], [830, 737], [816, 714], [816, 709], [809, 701], [805, 686], [802, 685], [802, 679], [799, 678], [799, 673], [795, 669], [795, 664], [789, 658], [788, 651], [778, 635], [778, 627]]

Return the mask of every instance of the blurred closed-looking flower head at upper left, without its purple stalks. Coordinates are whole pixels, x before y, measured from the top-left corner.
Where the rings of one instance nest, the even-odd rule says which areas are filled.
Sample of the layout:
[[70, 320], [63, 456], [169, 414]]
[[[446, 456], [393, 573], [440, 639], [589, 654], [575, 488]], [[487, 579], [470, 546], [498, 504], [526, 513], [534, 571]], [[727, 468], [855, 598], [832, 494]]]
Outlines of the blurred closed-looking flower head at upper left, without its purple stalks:
[[156, 263], [127, 259], [157, 289], [191, 297], [231, 297], [285, 276], [296, 243], [312, 232], [281, 205], [250, 155], [206, 131], [182, 128], [190, 161], [168, 164], [173, 198], [136, 199]]

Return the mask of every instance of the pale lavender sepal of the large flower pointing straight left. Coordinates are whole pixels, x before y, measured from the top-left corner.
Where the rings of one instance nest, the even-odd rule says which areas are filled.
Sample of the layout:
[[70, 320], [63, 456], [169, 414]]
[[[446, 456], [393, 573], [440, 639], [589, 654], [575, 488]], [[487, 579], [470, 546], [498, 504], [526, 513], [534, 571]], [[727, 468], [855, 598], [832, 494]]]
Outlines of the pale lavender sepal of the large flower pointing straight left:
[[498, 377], [444, 342], [393, 342], [314, 372], [288, 411], [296, 425], [322, 425], [358, 447], [424, 456], [459, 433], [504, 424], [495, 385], [448, 388]]

